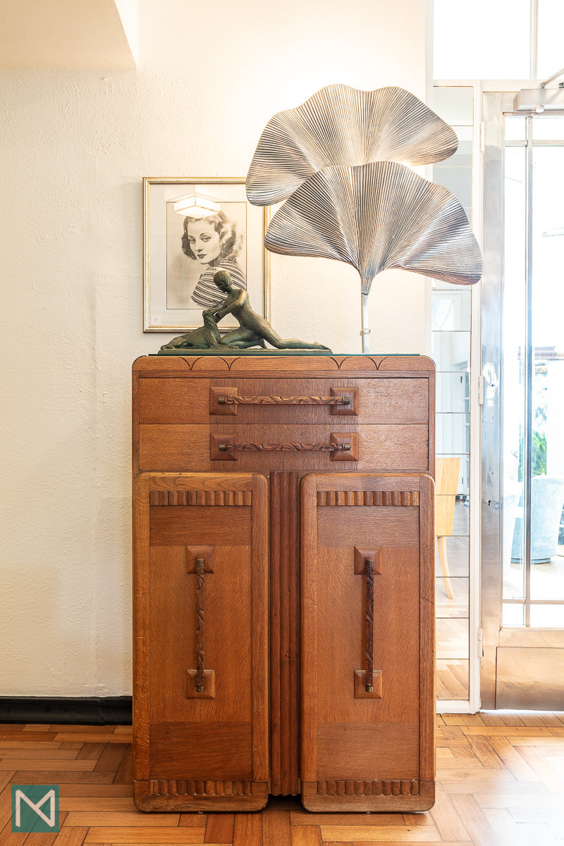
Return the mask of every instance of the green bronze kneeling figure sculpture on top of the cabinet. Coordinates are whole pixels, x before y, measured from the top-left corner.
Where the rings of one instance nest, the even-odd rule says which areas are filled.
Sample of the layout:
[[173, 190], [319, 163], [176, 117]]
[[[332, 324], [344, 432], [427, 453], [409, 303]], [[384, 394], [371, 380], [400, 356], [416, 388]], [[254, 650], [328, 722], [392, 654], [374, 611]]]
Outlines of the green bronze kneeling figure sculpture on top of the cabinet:
[[[331, 352], [329, 347], [322, 343], [308, 343], [299, 341], [298, 338], [281, 338], [264, 317], [252, 310], [249, 294], [233, 285], [227, 271], [216, 272], [213, 281], [223, 294], [227, 294], [222, 305], [203, 312], [204, 327], [194, 329], [193, 332], [186, 332], [178, 338], [172, 338], [172, 341], [161, 347], [162, 351], [167, 349], [249, 349], [249, 347], [257, 346], [266, 349], [265, 341], [268, 341], [275, 349], [326, 349]], [[216, 327], [217, 323], [229, 314], [238, 321], [239, 328], [227, 332], [220, 338], [217, 328], [214, 332], [212, 325]], [[206, 331], [202, 332], [202, 329]]]

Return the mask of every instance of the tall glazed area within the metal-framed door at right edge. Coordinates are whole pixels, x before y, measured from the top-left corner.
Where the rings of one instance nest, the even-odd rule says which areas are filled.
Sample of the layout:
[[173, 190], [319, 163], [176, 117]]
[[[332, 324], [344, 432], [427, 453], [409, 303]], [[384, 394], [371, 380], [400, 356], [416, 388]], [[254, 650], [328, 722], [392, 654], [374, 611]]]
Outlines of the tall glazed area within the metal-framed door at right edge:
[[564, 118], [505, 123], [503, 624], [564, 628]]

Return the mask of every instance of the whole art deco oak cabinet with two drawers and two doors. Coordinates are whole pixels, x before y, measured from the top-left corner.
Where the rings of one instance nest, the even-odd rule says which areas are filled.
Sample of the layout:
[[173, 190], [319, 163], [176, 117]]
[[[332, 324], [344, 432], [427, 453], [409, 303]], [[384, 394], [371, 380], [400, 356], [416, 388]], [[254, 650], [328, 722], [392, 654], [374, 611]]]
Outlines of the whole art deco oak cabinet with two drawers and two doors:
[[434, 368], [134, 363], [142, 810], [434, 800]]

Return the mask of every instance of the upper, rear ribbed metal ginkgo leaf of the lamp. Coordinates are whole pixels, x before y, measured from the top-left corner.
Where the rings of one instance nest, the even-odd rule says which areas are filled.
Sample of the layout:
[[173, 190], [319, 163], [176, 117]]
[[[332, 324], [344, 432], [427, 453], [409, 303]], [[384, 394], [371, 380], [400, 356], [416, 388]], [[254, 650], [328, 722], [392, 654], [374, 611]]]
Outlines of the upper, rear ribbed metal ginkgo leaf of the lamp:
[[266, 124], [247, 174], [247, 196], [255, 206], [268, 206], [323, 168], [441, 162], [457, 146], [454, 130], [403, 88], [327, 85]]

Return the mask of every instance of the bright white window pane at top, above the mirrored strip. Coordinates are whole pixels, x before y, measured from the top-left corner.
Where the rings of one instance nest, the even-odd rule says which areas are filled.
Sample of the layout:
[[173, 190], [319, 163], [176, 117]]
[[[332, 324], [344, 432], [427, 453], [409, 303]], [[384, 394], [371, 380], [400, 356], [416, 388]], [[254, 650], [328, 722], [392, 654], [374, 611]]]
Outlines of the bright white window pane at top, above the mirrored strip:
[[[526, 79], [529, 3], [474, 0], [468, 5], [462, 0], [435, 0], [435, 79]], [[554, 37], [561, 39], [561, 32], [556, 28]]]

